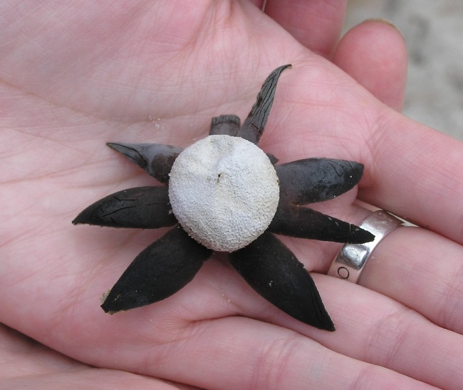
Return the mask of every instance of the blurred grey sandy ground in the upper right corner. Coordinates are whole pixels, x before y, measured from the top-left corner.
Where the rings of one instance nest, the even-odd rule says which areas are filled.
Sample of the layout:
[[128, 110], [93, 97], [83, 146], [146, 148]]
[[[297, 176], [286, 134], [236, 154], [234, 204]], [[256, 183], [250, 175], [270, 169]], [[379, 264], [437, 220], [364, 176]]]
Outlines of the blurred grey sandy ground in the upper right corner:
[[345, 30], [372, 18], [405, 36], [405, 116], [463, 140], [463, 1], [349, 0]]

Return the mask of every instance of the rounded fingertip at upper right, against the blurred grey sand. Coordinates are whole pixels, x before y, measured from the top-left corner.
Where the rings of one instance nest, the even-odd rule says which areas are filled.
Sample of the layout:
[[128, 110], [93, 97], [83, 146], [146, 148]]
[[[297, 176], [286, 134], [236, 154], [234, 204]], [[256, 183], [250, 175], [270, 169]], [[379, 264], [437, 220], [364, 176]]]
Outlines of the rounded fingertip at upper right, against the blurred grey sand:
[[355, 26], [340, 40], [333, 63], [387, 106], [402, 111], [407, 49], [394, 26], [384, 21]]

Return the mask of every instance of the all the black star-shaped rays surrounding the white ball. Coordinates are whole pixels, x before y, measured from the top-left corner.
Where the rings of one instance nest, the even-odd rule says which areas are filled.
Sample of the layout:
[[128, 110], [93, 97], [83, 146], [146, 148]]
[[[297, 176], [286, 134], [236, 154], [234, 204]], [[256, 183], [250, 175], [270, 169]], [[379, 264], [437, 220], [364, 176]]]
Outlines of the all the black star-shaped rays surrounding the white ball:
[[[269, 116], [276, 83], [285, 65], [264, 82], [249, 116], [240, 125], [237, 116], [212, 118], [210, 135], [232, 135], [259, 143]], [[147, 143], [108, 145], [167, 184], [181, 148]], [[268, 155], [271, 163], [278, 161]], [[319, 329], [335, 330], [310, 274], [274, 235], [333, 242], [370, 242], [374, 236], [358, 226], [308, 207], [353, 188], [363, 165], [329, 158], [306, 158], [275, 165], [280, 184], [276, 215], [260, 237], [231, 252], [229, 261], [256, 292], [291, 317]], [[108, 195], [80, 212], [74, 224], [156, 229], [175, 226], [140, 252], [101, 305], [105, 312], [142, 307], [170, 297], [190, 282], [212, 250], [187, 235], [172, 213], [167, 185], [130, 188]]]

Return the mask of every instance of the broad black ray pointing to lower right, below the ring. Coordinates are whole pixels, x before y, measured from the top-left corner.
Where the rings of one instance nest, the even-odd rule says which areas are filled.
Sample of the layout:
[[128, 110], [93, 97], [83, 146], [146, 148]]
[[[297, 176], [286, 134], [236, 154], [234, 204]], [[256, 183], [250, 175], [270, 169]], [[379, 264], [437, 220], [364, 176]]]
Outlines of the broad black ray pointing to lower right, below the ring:
[[335, 330], [311, 275], [271, 233], [232, 252], [229, 260], [256, 292], [283, 312], [318, 329]]

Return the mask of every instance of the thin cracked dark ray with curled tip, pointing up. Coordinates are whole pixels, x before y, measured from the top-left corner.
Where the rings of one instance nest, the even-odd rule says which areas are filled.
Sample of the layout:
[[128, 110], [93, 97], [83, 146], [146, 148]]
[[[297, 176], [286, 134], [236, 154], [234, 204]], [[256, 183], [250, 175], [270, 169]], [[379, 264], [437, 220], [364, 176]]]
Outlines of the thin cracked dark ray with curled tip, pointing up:
[[274, 103], [276, 83], [281, 72], [286, 68], [291, 68], [291, 65], [288, 64], [276, 68], [266, 78], [261, 91], [257, 95], [256, 103], [252, 106], [251, 112], [246, 120], [244, 120], [241, 130], [239, 130], [239, 137], [249, 140], [256, 145], [259, 143], [262, 133], [264, 133], [267, 118], [269, 118], [271, 105]]

